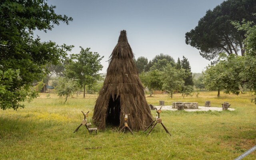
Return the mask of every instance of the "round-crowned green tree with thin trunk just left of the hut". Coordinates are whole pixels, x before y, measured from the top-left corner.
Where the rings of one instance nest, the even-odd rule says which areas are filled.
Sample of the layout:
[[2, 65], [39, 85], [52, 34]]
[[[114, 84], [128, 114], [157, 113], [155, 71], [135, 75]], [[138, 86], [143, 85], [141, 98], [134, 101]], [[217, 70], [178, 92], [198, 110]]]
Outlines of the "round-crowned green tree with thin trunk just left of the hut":
[[101, 78], [98, 72], [103, 68], [100, 61], [104, 56], [100, 57], [97, 52], [90, 52], [90, 48], [84, 49], [81, 46], [80, 48], [80, 54], [71, 55], [72, 61], [66, 65], [65, 75], [78, 80], [80, 86], [84, 88], [85, 98], [86, 85], [94, 84]]

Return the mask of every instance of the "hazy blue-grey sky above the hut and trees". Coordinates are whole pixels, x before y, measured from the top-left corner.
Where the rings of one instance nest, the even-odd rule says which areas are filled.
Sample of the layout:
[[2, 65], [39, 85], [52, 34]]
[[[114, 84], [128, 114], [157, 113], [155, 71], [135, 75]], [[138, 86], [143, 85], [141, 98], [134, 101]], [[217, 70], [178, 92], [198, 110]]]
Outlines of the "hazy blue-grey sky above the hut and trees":
[[104, 56], [101, 73], [117, 44], [121, 30], [127, 31], [135, 58], [152, 60], [157, 54], [169, 54], [176, 61], [185, 56], [194, 73], [202, 72], [210, 61], [199, 50], [185, 43], [185, 33], [193, 29], [206, 10], [224, 0], [48, 0], [57, 14], [71, 16], [69, 25], [61, 23], [52, 31], [35, 32], [42, 41], [91, 48]]

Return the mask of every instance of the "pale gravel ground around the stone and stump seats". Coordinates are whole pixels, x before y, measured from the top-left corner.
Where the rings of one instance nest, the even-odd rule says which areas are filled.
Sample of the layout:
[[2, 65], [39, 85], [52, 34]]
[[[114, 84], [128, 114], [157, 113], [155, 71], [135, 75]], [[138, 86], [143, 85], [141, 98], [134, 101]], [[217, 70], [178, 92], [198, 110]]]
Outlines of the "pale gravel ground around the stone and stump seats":
[[[159, 109], [161, 106], [155, 106], [157, 109]], [[162, 106], [161, 110], [177, 110], [177, 108], [172, 108], [172, 106]], [[204, 106], [198, 106], [198, 109], [184, 109], [188, 112], [195, 112], [195, 111], [222, 111], [222, 107], [204, 107]], [[228, 108], [228, 110], [235, 110], [234, 108]]]

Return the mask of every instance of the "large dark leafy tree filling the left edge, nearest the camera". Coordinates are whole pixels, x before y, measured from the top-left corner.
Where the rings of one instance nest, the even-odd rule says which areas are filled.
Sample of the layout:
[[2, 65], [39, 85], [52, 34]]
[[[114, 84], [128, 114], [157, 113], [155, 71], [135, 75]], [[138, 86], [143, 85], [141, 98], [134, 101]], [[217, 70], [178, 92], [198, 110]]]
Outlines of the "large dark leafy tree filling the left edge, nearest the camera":
[[34, 30], [52, 30], [54, 24], [72, 21], [54, 12], [45, 0], [0, 2], [0, 108], [24, 108], [32, 82], [42, 80], [46, 64], [57, 64], [72, 46], [41, 42]]

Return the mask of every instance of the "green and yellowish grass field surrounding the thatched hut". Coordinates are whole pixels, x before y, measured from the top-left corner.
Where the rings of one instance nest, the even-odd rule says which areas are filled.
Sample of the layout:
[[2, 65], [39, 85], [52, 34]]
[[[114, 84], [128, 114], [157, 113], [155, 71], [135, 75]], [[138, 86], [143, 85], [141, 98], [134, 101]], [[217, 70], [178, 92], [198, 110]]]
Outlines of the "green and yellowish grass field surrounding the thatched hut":
[[[148, 96], [148, 95], [147, 95]], [[82, 126], [73, 131], [83, 119], [81, 110], [90, 111], [95, 104], [94, 95], [82, 94], [64, 98], [41, 94], [26, 108], [0, 110], [0, 160], [232, 160], [256, 145], [256, 105], [250, 94], [226, 95], [200, 92], [199, 97], [174, 94], [156, 94], [147, 97], [149, 104], [164, 100], [172, 102], [198, 102], [204, 106], [221, 107], [229, 102], [235, 111], [186, 112], [163, 111], [161, 118], [172, 134], [166, 134], [161, 125], [152, 133], [118, 133], [114, 128], [89, 135]], [[155, 115], [155, 111], [152, 111]], [[256, 160], [256, 152], [244, 160]]]

